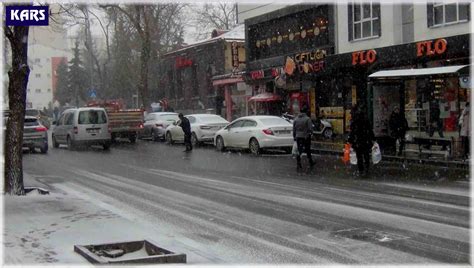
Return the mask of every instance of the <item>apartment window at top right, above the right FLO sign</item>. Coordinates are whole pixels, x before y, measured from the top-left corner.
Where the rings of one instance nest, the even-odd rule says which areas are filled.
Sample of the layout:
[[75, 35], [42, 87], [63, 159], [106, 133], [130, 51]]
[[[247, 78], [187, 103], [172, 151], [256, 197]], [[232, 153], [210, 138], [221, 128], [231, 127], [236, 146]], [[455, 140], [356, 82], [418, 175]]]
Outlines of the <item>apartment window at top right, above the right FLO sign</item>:
[[469, 21], [469, 3], [458, 1], [428, 4], [428, 27]]

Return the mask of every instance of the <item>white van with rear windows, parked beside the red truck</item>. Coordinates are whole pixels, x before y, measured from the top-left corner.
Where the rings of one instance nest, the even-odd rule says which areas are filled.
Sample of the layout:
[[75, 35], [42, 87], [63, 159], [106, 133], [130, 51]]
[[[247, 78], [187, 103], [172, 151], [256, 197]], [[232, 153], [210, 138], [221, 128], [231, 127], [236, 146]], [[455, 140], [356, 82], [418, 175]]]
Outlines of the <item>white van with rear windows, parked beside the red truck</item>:
[[53, 147], [66, 144], [72, 150], [78, 145], [102, 145], [108, 150], [111, 135], [104, 108], [84, 107], [64, 111], [55, 122]]

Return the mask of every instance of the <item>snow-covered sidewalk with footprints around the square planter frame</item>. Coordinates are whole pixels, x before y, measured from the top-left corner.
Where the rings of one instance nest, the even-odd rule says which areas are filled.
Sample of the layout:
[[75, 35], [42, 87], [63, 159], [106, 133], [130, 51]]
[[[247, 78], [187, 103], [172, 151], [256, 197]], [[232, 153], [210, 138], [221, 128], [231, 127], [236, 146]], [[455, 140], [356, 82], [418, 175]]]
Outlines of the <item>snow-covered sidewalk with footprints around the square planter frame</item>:
[[[25, 186], [50, 190], [49, 195], [4, 196], [4, 265], [79, 264], [89, 262], [74, 245], [152, 240], [158, 246], [185, 253], [187, 263], [215, 263], [204, 245], [174, 237], [166, 227], [146, 224], [74, 189], [48, 189], [28, 174]], [[66, 189], [66, 190], [64, 190]], [[36, 192], [36, 191], [35, 191]], [[194, 244], [193, 244], [194, 243]]]

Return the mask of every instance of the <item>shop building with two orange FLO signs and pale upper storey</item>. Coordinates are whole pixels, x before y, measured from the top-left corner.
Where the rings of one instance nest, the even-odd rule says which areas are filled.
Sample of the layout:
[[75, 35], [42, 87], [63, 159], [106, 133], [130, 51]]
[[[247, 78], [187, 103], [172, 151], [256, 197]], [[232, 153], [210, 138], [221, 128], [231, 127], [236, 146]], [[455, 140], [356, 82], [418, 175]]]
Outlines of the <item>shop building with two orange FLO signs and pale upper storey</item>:
[[[305, 10], [309, 12], [305, 13]], [[280, 94], [286, 100], [283, 106], [285, 111], [295, 113], [301, 105], [308, 105], [312, 116], [327, 118], [335, 133], [343, 134], [349, 130], [352, 106], [357, 102], [367, 102], [368, 98], [373, 97], [368, 94], [372, 93], [368, 90], [371, 74], [390, 69], [469, 64], [469, 10], [469, 3], [457, 1], [440, 4], [379, 4], [369, 1], [359, 4], [349, 2], [340, 5], [289, 6], [249, 18], [245, 20], [247, 79], [254, 89]], [[289, 18], [295, 18], [295, 23], [300, 24], [296, 32], [291, 29]], [[307, 18], [307, 21], [303, 18]], [[306, 43], [308, 46], [299, 45], [298, 41], [303, 40], [304, 43], [306, 39], [302, 38], [303, 32], [306, 37], [309, 36], [310, 29], [306, 29], [305, 22], [316, 26], [320, 18], [327, 21], [327, 25], [324, 25], [327, 39], [319, 36], [316, 38], [319, 42], [312, 39]], [[267, 25], [273, 25], [273, 28], [268, 28]], [[255, 32], [252, 29], [263, 30], [256, 31], [259, 35], [252, 35]], [[288, 38], [286, 48], [281, 49], [273, 45], [273, 37], [268, 40], [269, 37], [264, 36], [271, 31], [293, 31], [294, 36], [298, 35], [299, 39]], [[317, 31], [314, 29], [313, 33], [315, 32]], [[319, 27], [319, 34], [321, 33]], [[278, 36], [276, 34], [277, 43]], [[442, 88], [447, 90], [459, 86], [459, 83], [455, 83], [455, 78], [451, 78], [451, 82], [426, 79], [436, 78], [423, 77], [424, 82], [419, 82], [420, 79], [403, 79], [404, 84], [408, 83], [404, 86], [408, 93], [404, 90], [402, 95], [408, 94], [414, 98], [413, 92], [421, 94], [421, 87], [427, 88], [427, 91], [440, 91]], [[379, 82], [380, 80], [378, 79]], [[423, 83], [429, 86], [423, 86]], [[459, 108], [452, 111], [451, 118], [462, 109], [463, 96], [468, 94], [464, 90], [457, 92], [456, 96], [460, 99], [456, 105]], [[442, 96], [444, 95], [438, 98]], [[404, 98], [403, 101], [409, 101], [409, 98]], [[375, 108], [373, 103], [367, 104]], [[419, 109], [418, 106], [422, 104], [406, 105], [407, 117], [410, 118], [415, 113], [413, 109]], [[455, 104], [450, 105], [454, 109]], [[376, 113], [375, 110], [371, 112]], [[446, 127], [453, 125], [454, 119], [450, 120], [450, 123], [446, 122]], [[419, 127], [413, 125], [413, 119], [411, 122], [411, 128]], [[419, 120], [416, 122], [421, 124]]]

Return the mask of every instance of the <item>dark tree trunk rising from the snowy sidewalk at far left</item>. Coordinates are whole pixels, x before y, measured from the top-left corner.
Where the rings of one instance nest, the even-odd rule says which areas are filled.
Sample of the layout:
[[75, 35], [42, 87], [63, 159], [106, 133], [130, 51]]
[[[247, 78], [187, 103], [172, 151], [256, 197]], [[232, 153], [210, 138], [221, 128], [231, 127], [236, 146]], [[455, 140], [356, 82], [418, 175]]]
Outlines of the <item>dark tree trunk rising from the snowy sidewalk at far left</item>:
[[29, 28], [26, 26], [15, 26], [13, 31], [9, 31], [7, 34], [12, 48], [12, 69], [8, 72], [10, 117], [5, 137], [4, 179], [5, 193], [12, 195], [25, 194], [22, 147], [26, 88], [30, 74], [30, 68], [28, 67], [28, 32]]

